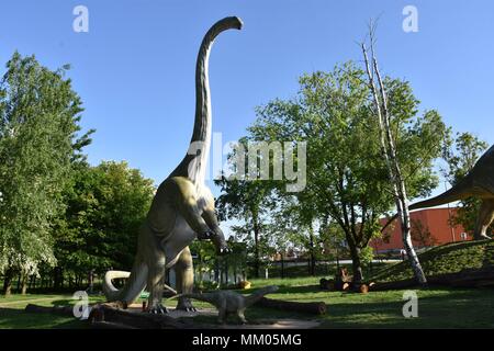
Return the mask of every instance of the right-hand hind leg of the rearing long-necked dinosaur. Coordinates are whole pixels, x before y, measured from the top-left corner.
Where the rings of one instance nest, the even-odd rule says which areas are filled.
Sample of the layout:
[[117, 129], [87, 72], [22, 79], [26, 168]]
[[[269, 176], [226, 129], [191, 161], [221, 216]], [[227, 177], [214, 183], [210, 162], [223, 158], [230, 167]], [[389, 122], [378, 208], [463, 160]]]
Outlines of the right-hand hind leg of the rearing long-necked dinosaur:
[[[179, 294], [192, 293], [194, 286], [194, 271], [192, 264], [192, 254], [189, 247], [184, 248], [180, 253], [179, 259], [175, 265], [175, 273], [177, 279], [177, 291]], [[192, 306], [190, 298], [180, 297], [177, 304], [177, 309], [187, 312], [197, 312]]]

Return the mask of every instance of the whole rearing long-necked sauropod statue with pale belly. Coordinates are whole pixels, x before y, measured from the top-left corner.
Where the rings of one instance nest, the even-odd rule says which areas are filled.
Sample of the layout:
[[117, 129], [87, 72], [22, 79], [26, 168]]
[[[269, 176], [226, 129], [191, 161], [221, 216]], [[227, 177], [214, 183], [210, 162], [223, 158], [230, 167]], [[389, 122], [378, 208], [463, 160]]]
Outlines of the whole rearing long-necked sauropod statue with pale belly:
[[[215, 37], [231, 29], [240, 30], [236, 16], [216, 22], [205, 34], [195, 67], [195, 122], [190, 148], [180, 165], [159, 185], [137, 238], [137, 253], [131, 272], [109, 271], [103, 292], [110, 302], [133, 303], [147, 286], [150, 313], [166, 313], [161, 305], [165, 270], [175, 265], [177, 290], [193, 288], [192, 257], [189, 245], [195, 239], [211, 239], [218, 253], [227, 251], [214, 208], [214, 197], [205, 185], [205, 169], [211, 144], [211, 101], [209, 57]], [[117, 290], [112, 280], [128, 278]], [[190, 299], [179, 299], [177, 308], [193, 310]]]

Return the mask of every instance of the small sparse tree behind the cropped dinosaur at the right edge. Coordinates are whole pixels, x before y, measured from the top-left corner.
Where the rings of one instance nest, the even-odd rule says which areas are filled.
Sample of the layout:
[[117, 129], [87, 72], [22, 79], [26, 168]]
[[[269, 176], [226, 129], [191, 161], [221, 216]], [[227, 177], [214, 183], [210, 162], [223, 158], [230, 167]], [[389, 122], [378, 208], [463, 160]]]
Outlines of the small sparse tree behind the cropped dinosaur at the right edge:
[[[463, 179], [487, 147], [487, 143], [470, 133], [457, 133], [456, 138], [448, 138], [442, 151], [442, 158], [447, 163], [442, 174], [448, 182], [454, 185]], [[481, 201], [475, 197], [462, 200], [460, 208], [451, 218], [452, 225], [460, 224], [468, 233], [473, 234], [480, 205]], [[494, 225], [490, 230], [494, 230]]]

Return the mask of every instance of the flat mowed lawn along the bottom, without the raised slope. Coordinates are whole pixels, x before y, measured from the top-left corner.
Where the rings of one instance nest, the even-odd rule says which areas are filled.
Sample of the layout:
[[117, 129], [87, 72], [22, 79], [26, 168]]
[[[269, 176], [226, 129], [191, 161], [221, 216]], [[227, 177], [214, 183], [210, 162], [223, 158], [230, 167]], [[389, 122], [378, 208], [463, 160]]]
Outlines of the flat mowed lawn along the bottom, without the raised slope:
[[[308, 280], [308, 279], [307, 279]], [[255, 282], [257, 287], [277, 283]], [[366, 295], [321, 291], [316, 285], [296, 285], [305, 280], [284, 280], [271, 298], [318, 302], [328, 305], [326, 316], [310, 316], [290, 310], [251, 307], [246, 318], [252, 324], [267, 322], [274, 318], [300, 318], [319, 320], [321, 328], [494, 328], [494, 290], [476, 288], [426, 288], [416, 290], [418, 296], [418, 318], [404, 318], [402, 309], [404, 291], [372, 292]], [[251, 290], [254, 291], [254, 288]], [[249, 293], [249, 291], [246, 291]], [[103, 301], [91, 297], [91, 302]], [[88, 328], [88, 324], [70, 317], [27, 314], [29, 303], [43, 306], [74, 303], [66, 295], [26, 295], [0, 298], [0, 328]], [[175, 301], [166, 301], [173, 307]], [[194, 303], [197, 307], [212, 307], [205, 303]], [[214, 317], [197, 317], [198, 322], [215, 324]], [[235, 318], [231, 322], [236, 322]], [[269, 321], [268, 321], [269, 322]]]

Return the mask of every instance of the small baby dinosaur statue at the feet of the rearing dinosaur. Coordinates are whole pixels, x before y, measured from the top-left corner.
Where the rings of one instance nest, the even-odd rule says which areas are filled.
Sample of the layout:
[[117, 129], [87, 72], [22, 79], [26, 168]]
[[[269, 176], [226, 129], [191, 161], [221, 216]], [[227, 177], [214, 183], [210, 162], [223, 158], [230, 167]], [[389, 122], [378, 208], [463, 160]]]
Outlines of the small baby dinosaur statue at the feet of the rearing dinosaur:
[[170, 298], [177, 297], [188, 297], [198, 301], [202, 301], [205, 303], [210, 303], [217, 309], [217, 319], [218, 322], [224, 324], [228, 315], [237, 315], [243, 324], [246, 324], [244, 313], [245, 309], [259, 299], [261, 299], [267, 294], [272, 294], [278, 291], [278, 286], [268, 285], [262, 288], [257, 290], [255, 293], [244, 296], [239, 293], [228, 291], [228, 290], [220, 290], [211, 293], [200, 293], [200, 294], [180, 294], [177, 296], [172, 296]]

